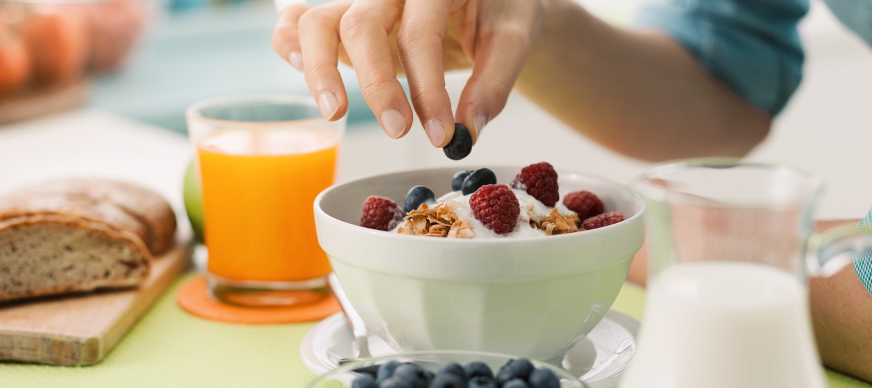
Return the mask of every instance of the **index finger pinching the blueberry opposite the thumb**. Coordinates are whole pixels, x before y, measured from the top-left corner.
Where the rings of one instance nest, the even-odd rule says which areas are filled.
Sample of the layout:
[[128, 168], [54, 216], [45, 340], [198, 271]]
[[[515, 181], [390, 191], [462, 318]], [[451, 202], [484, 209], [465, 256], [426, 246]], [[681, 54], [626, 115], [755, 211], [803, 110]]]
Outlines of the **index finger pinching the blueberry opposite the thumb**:
[[444, 147], [454, 136], [454, 117], [442, 65], [442, 38], [452, 3], [406, 1], [397, 32], [399, 59], [409, 81], [412, 105], [430, 143], [436, 147]]

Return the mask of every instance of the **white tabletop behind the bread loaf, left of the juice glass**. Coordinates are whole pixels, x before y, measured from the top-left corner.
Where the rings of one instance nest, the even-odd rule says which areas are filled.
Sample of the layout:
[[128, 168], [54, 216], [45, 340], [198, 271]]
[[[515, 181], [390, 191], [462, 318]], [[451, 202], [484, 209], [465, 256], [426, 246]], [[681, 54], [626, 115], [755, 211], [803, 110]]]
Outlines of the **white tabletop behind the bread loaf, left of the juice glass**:
[[0, 126], [0, 192], [55, 177], [115, 177], [181, 207], [187, 138], [99, 110]]

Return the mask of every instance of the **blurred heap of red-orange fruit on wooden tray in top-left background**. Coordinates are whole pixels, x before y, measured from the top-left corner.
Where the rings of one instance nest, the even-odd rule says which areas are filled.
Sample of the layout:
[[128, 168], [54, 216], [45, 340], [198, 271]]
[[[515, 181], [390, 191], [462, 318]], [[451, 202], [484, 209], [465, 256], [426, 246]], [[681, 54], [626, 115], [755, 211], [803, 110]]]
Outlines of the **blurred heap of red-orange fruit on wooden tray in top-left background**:
[[118, 70], [145, 0], [0, 0], [0, 124], [81, 104], [91, 73]]

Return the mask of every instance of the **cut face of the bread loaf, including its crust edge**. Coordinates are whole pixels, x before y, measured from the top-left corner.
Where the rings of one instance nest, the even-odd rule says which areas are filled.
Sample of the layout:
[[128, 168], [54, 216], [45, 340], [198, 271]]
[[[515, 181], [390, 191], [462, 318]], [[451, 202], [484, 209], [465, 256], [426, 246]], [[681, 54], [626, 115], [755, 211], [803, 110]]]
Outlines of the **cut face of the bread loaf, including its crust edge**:
[[140, 284], [151, 254], [130, 231], [68, 215], [0, 222], [0, 301]]

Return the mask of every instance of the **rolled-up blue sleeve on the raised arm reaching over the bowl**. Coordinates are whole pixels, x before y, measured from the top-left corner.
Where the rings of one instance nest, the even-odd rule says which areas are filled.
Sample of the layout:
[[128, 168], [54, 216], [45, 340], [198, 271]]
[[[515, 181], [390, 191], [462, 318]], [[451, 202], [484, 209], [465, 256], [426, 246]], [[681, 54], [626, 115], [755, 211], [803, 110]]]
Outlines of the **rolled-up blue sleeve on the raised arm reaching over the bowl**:
[[802, 78], [808, 0], [655, 0], [634, 26], [662, 30], [749, 104], [778, 114]]

